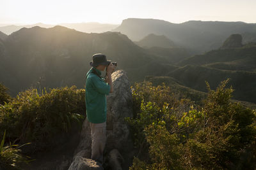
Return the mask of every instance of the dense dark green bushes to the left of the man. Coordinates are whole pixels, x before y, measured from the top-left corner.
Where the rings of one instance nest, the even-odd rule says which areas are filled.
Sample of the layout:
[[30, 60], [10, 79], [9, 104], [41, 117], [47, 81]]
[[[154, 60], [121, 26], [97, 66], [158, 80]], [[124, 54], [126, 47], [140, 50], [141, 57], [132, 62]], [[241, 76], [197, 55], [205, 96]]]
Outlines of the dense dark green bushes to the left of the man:
[[76, 86], [19, 92], [12, 102], [0, 106], [0, 132], [6, 129], [8, 141], [51, 143], [52, 138], [65, 134], [83, 122], [84, 90]]

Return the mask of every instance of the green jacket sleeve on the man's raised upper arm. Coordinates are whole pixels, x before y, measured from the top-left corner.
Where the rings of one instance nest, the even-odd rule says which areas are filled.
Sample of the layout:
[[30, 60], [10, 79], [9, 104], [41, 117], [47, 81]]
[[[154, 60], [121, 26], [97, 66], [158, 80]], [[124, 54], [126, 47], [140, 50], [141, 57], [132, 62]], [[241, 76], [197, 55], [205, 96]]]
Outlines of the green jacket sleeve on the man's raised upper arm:
[[110, 85], [105, 83], [103, 80], [100, 80], [99, 77], [92, 76], [92, 83], [93, 83], [93, 87], [97, 92], [100, 92], [101, 94], [109, 94]]

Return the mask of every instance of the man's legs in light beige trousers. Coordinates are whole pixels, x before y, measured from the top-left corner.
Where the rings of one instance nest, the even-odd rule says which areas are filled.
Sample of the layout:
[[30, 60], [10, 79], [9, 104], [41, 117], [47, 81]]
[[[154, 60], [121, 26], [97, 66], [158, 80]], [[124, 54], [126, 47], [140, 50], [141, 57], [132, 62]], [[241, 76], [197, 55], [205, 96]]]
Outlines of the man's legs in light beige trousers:
[[103, 164], [103, 151], [106, 144], [106, 122], [102, 124], [92, 124], [90, 122], [92, 135], [92, 157]]

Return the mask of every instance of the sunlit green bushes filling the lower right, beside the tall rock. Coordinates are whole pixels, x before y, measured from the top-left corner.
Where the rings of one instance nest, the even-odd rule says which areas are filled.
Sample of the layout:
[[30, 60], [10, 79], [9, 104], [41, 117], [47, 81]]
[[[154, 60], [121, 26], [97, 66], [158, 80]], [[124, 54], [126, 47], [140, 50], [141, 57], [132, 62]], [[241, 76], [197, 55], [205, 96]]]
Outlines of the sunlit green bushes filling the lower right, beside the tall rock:
[[253, 169], [256, 111], [232, 103], [227, 83], [216, 90], [207, 83], [202, 107], [164, 85], [132, 87], [140, 110], [127, 121], [139, 154], [130, 169]]

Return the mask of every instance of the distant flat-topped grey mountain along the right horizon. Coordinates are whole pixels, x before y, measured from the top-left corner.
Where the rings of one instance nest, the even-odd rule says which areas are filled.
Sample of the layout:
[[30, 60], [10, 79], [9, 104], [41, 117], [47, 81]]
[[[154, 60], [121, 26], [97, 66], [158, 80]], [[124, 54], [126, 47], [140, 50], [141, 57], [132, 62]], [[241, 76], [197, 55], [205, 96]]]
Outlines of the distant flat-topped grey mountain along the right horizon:
[[[164, 20], [127, 18], [113, 31], [126, 34], [132, 41], [139, 41], [148, 34], [164, 35], [178, 46], [202, 53], [219, 48], [230, 34], [255, 35], [256, 24], [196, 20], [173, 24]], [[247, 38], [243, 37], [243, 43], [253, 39]]]

